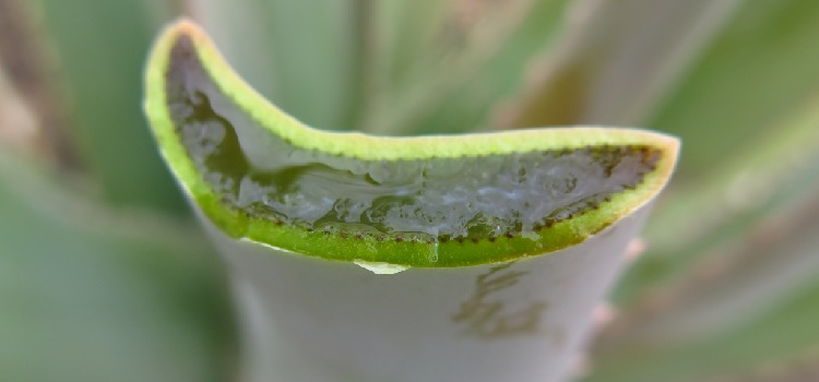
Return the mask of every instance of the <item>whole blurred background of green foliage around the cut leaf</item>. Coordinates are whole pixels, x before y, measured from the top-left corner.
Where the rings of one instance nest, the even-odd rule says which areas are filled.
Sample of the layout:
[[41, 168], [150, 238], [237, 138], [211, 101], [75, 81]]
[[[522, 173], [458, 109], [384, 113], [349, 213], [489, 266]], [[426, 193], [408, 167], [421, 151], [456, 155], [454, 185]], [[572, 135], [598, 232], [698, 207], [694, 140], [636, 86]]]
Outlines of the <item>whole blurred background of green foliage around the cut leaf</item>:
[[579, 379], [819, 380], [814, 0], [0, 0], [0, 380], [236, 380], [225, 271], [140, 110], [180, 14], [325, 129], [679, 135]]

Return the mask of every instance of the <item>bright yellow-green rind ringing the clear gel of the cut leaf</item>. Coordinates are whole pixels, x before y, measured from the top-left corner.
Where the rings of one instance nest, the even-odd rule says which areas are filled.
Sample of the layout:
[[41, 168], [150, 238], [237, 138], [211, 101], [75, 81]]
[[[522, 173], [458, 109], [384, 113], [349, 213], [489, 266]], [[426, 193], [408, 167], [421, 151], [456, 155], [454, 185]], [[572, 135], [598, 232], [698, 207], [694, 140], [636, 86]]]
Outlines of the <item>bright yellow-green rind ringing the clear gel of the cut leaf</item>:
[[[656, 169], [634, 190], [617, 193], [600, 208], [591, 210], [532, 235], [500, 237], [489, 242], [412, 242], [344, 239], [319, 231], [247, 216], [221, 203], [219, 195], [202, 179], [180, 143], [166, 104], [165, 74], [174, 44], [187, 36], [216, 86], [262, 127], [307, 150], [369, 160], [461, 157], [513, 152], [572, 150], [594, 145], [646, 145], [660, 150]], [[177, 180], [207, 218], [226, 235], [263, 246], [325, 260], [384, 262], [413, 267], [452, 267], [518, 260], [578, 244], [652, 200], [668, 182], [676, 165], [676, 138], [638, 129], [601, 127], [530, 129], [462, 135], [381, 138], [355, 132], [311, 129], [286, 115], [229, 67], [207, 35], [182, 19], [156, 40], [145, 72], [144, 109], [159, 151]]]

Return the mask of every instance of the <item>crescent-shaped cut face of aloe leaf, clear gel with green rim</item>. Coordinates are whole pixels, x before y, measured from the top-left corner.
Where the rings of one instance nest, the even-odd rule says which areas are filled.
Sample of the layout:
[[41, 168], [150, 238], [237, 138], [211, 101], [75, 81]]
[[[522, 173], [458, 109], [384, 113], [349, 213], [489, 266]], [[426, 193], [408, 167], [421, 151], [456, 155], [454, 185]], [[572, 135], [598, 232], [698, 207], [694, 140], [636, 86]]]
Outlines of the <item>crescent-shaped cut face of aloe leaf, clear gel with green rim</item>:
[[145, 109], [166, 160], [218, 228], [307, 255], [440, 267], [577, 244], [666, 183], [673, 138], [626, 129], [378, 138], [312, 130], [179, 22]]

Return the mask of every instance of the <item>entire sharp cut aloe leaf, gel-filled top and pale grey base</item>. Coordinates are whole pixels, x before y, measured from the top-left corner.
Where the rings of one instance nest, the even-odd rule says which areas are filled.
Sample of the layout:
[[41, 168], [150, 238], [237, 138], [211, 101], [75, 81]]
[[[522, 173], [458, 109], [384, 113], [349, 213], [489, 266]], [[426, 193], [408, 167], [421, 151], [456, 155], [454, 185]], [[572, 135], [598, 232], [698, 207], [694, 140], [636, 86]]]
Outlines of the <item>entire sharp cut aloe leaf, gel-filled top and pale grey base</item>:
[[232, 267], [247, 381], [562, 380], [678, 150], [628, 129], [313, 130], [188, 21], [146, 87]]

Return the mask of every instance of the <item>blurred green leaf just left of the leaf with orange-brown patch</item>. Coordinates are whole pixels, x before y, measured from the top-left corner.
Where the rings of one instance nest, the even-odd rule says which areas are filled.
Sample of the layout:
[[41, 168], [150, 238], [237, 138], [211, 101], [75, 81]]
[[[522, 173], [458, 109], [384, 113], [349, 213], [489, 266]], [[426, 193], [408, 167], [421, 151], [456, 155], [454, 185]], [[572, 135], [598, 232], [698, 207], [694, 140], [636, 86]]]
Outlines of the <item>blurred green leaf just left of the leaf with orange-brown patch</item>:
[[359, 128], [390, 135], [491, 128], [533, 61], [559, 41], [571, 9], [567, 0], [378, 4], [384, 37]]

